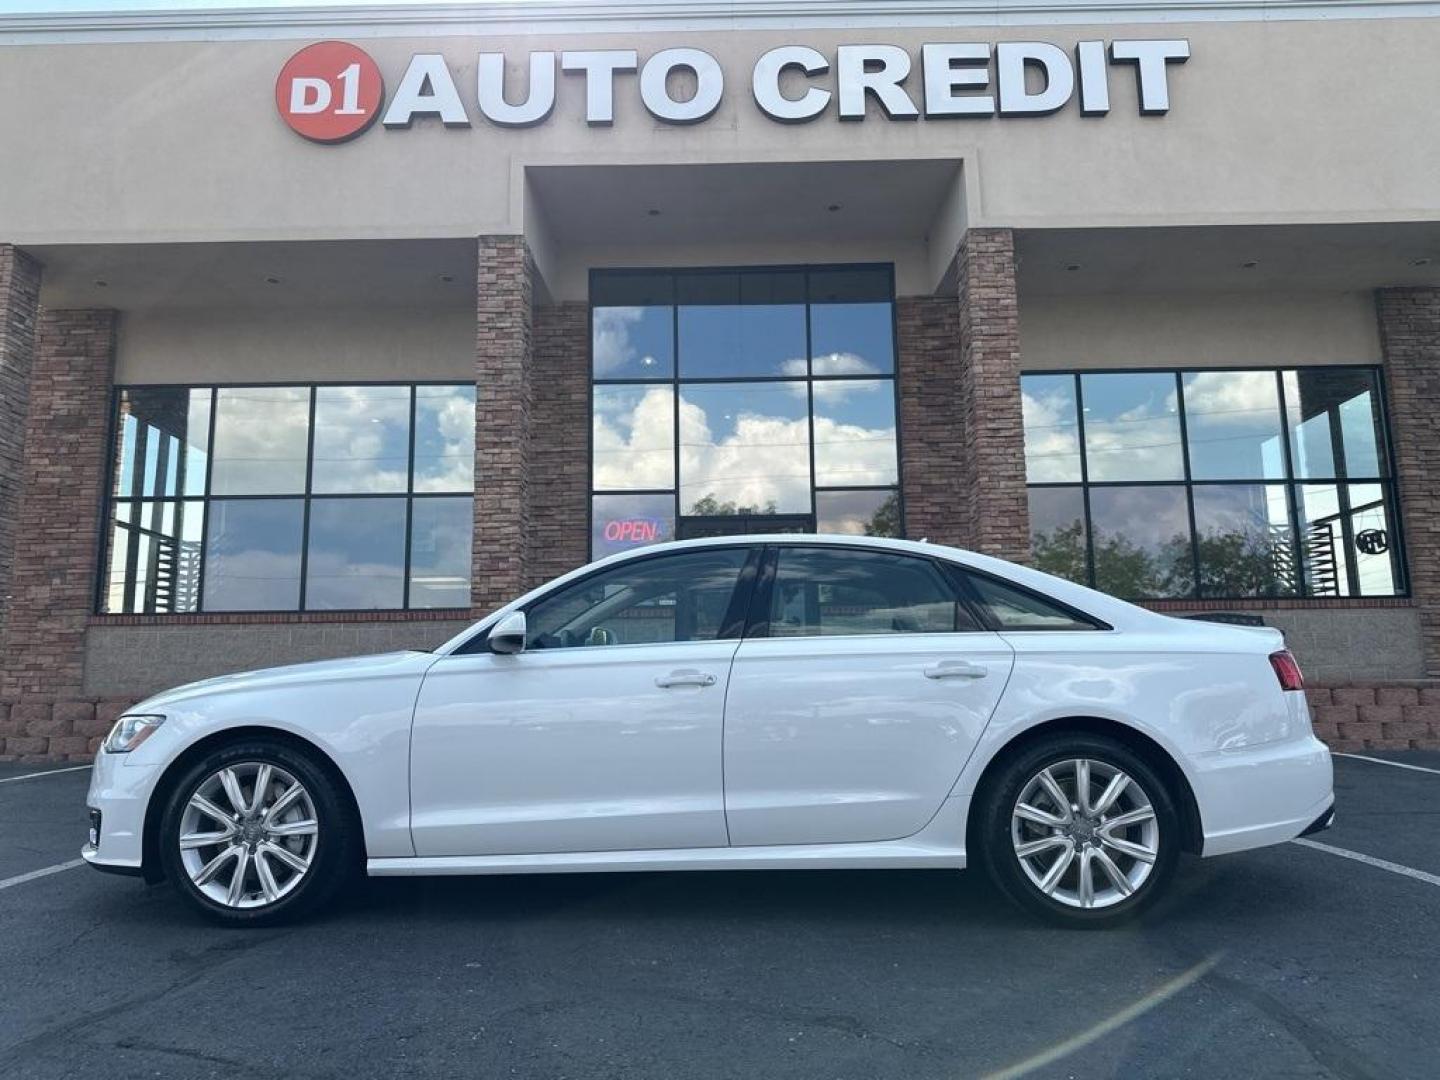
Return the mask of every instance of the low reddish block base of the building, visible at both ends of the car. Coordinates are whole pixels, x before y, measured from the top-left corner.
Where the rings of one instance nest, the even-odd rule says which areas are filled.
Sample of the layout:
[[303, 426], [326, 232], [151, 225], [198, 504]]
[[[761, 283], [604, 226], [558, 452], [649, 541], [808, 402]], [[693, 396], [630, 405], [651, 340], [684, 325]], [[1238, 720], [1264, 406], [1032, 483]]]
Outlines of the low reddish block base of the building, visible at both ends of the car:
[[[1305, 691], [1332, 750], [1440, 750], [1440, 680], [1346, 683]], [[0, 701], [0, 762], [88, 762], [132, 703]]]

